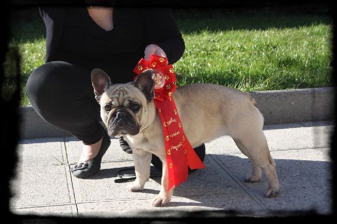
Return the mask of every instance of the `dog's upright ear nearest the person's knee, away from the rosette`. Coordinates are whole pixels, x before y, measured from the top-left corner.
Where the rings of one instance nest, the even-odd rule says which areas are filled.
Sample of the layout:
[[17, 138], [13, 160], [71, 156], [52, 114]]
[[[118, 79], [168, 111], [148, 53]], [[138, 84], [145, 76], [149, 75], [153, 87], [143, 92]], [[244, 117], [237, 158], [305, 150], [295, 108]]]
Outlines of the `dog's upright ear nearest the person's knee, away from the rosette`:
[[91, 72], [91, 83], [94, 87], [95, 98], [100, 101], [101, 95], [112, 84], [108, 74], [100, 68], [94, 68]]

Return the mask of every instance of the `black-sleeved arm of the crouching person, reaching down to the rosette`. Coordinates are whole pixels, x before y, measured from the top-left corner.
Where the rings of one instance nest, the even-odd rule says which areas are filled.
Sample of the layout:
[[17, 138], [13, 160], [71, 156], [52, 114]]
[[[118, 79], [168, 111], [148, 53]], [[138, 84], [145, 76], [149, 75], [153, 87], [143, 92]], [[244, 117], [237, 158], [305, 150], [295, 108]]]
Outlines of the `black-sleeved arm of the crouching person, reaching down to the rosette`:
[[170, 8], [145, 9], [144, 22], [147, 45], [158, 45], [164, 51], [168, 63], [176, 63], [183, 56], [185, 42], [172, 10]]

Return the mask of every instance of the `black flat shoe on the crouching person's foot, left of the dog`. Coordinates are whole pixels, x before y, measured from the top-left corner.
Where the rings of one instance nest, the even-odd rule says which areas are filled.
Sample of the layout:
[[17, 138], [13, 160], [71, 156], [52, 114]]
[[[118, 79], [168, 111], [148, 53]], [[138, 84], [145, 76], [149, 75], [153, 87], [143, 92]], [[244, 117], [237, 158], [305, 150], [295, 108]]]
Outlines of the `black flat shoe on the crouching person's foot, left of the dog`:
[[102, 157], [107, 152], [110, 143], [111, 143], [110, 136], [106, 132], [104, 132], [102, 145], [97, 156], [91, 160], [88, 160], [85, 163], [77, 163], [74, 167], [70, 169], [72, 175], [82, 179], [94, 176], [98, 171], [100, 171]]

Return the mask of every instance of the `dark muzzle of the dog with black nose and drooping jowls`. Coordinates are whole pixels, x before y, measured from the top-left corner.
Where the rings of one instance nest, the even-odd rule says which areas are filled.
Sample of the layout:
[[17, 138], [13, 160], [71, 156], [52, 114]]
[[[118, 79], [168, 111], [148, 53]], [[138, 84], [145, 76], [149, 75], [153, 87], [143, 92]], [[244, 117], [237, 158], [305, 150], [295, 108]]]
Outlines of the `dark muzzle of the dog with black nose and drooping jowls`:
[[108, 122], [108, 134], [119, 137], [121, 135], [137, 135], [139, 127], [133, 117], [123, 108], [115, 111]]

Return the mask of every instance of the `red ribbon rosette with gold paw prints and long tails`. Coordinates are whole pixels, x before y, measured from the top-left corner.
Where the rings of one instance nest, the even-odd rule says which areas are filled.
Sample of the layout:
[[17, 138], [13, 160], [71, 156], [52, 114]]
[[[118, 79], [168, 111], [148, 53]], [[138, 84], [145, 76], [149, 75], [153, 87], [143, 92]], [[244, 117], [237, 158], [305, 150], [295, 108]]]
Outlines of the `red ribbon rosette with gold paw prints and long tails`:
[[[160, 115], [162, 130], [165, 138], [165, 152], [168, 168], [168, 189], [185, 182], [188, 177], [188, 167], [191, 169], [204, 168], [189, 141], [185, 137], [176, 104], [172, 98], [177, 81], [172, 65], [166, 65], [167, 58], [150, 55], [150, 61], [142, 58], [133, 72], [137, 76], [146, 69], [154, 69], [154, 103]], [[135, 79], [135, 76], [133, 79]]]

